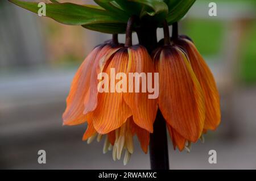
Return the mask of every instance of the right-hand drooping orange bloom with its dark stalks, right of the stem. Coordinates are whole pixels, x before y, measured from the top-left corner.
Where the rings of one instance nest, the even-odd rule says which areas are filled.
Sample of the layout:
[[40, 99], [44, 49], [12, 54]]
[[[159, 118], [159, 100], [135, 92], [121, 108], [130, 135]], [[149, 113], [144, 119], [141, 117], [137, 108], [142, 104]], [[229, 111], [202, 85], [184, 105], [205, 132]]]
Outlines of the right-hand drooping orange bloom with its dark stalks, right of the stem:
[[191, 142], [220, 124], [216, 83], [191, 39], [177, 35], [171, 41], [166, 28], [163, 44], [152, 54], [159, 72], [159, 109], [167, 122], [174, 148], [187, 151]]

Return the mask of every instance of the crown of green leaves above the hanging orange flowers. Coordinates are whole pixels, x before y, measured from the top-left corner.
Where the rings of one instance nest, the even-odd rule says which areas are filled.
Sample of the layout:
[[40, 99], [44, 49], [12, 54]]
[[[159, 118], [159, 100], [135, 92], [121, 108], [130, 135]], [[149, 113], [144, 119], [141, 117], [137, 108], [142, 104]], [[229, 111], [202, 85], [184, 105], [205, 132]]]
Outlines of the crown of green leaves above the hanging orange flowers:
[[[38, 2], [9, 0], [17, 6], [38, 13]], [[137, 15], [143, 22], [162, 26], [177, 22], [188, 12], [196, 0], [94, 0], [98, 6], [46, 3], [46, 16], [59, 23], [83, 26], [89, 30], [105, 33], [124, 33], [131, 15]]]

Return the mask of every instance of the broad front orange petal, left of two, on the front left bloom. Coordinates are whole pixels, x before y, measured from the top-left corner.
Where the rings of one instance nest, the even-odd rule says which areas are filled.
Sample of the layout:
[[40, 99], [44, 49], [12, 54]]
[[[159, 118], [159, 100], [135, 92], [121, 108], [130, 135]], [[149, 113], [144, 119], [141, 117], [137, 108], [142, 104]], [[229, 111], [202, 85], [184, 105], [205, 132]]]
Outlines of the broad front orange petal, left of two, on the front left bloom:
[[[128, 54], [127, 50], [126, 53], [124, 52], [124, 49], [122, 48], [115, 53], [106, 70], [104, 70], [106, 74], [110, 75], [111, 68], [115, 70], [116, 74], [126, 72]], [[109, 92], [98, 93], [98, 105], [94, 111], [89, 112], [87, 115], [88, 119], [93, 120], [93, 125], [97, 132], [106, 134], [121, 127], [127, 118], [131, 116], [131, 110], [124, 102], [122, 92], [110, 92], [109, 90]]]

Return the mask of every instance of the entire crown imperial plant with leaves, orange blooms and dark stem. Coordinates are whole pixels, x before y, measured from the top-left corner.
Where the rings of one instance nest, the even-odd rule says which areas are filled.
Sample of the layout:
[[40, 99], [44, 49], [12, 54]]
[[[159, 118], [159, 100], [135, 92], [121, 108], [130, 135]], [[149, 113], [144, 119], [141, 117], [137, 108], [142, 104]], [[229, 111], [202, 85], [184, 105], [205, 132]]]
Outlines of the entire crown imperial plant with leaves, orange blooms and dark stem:
[[[96, 137], [98, 141], [105, 137], [104, 153], [113, 149], [114, 160], [120, 159], [125, 150], [124, 163], [129, 161], [135, 134], [147, 153], [149, 135], [154, 132], [151, 167], [168, 169], [164, 120], [174, 148], [187, 151], [191, 142], [203, 139], [204, 133], [220, 124], [220, 98], [213, 75], [192, 40], [177, 33], [175, 22], [187, 13], [195, 0], [94, 0], [99, 6], [50, 0], [52, 3], [42, 8], [37, 2], [9, 1], [38, 15], [47, 9], [43, 16], [63, 24], [114, 34], [113, 40], [98, 45], [82, 62], [73, 78], [63, 114], [64, 125], [87, 123], [83, 140], [88, 143]], [[174, 30], [171, 40], [170, 24]], [[156, 28], [162, 27], [164, 40], [158, 43]], [[116, 34], [125, 31], [125, 45], [119, 44]], [[137, 32], [139, 45], [131, 44], [132, 31]], [[114, 87], [111, 86], [112, 70], [119, 75], [115, 76]], [[151, 76], [151, 83], [147, 80], [146, 86], [154, 85], [159, 96], [149, 98], [152, 92], [143, 91], [143, 81], [130, 84], [133, 79], [130, 73], [158, 74], [158, 78]], [[120, 83], [125, 77], [129, 81]], [[139, 91], [135, 91], [136, 86]], [[153, 130], [156, 112], [157, 124]]]

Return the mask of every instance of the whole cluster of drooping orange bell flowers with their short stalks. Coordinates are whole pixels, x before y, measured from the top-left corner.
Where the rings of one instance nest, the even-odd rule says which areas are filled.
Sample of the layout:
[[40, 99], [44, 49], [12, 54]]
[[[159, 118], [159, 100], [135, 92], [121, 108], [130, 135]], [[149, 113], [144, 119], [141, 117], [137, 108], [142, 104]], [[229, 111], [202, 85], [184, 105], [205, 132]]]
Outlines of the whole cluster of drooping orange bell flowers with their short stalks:
[[[112, 80], [102, 74], [111, 77], [113, 69], [129, 78], [122, 86], [118, 81], [123, 76], [114, 80], [114, 88], [119, 86], [122, 91], [106, 86]], [[132, 81], [130, 85], [134, 77], [130, 78], [129, 73], [155, 72], [159, 73], [159, 80], [152, 78], [152, 82], [159, 82], [157, 99], [148, 99], [149, 92], [142, 91], [142, 82]], [[136, 84], [139, 92], [134, 90]], [[104, 91], [99, 91], [99, 87]], [[147, 153], [158, 108], [166, 120], [174, 149], [180, 151], [190, 151], [191, 142], [203, 139], [204, 133], [220, 124], [216, 83], [192, 40], [175, 33], [170, 39], [165, 23], [164, 40], [159, 41], [159, 47], [150, 56], [142, 45], [131, 44], [128, 23], [125, 45], [119, 44], [115, 35], [112, 41], [97, 46], [85, 58], [73, 79], [63, 120], [64, 125], [87, 122], [83, 140], [90, 143], [96, 137], [100, 141], [105, 136], [103, 152], [113, 150], [116, 160], [125, 151], [126, 165], [134, 152], [135, 134]]]

